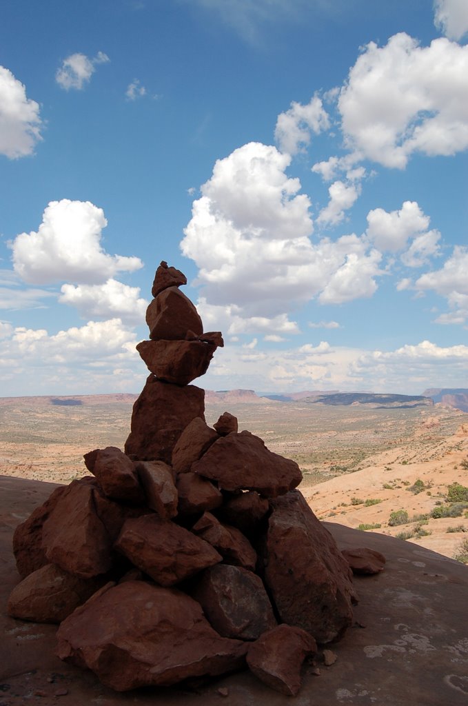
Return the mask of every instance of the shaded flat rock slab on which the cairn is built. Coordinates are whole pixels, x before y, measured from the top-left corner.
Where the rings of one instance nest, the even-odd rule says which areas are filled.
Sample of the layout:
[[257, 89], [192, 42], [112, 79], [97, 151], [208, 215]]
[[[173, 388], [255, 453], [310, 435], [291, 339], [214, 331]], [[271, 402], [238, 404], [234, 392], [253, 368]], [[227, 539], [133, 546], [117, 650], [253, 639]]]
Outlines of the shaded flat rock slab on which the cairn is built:
[[[0, 598], [4, 606], [20, 577], [11, 551], [13, 531], [56, 488], [54, 484], [0, 477]], [[64, 487], [64, 486], [59, 486]], [[305, 665], [294, 706], [392, 705], [466, 706], [468, 651], [466, 608], [468, 567], [417, 542], [401, 542], [378, 532], [363, 533], [336, 523], [324, 526], [340, 550], [363, 546], [387, 559], [385, 569], [355, 576], [359, 604], [343, 640], [332, 645], [337, 660], [320, 676]], [[16, 620], [0, 611], [0, 701], [24, 706], [31, 700], [83, 706], [285, 706], [290, 697], [271, 690], [248, 670], [184, 688], [149, 688], [121, 694], [90, 671], [55, 656], [56, 626]], [[57, 698], [57, 691], [68, 691]], [[221, 698], [220, 691], [227, 694]], [[35, 692], [43, 698], [33, 697]], [[410, 696], [409, 696], [410, 695]]]

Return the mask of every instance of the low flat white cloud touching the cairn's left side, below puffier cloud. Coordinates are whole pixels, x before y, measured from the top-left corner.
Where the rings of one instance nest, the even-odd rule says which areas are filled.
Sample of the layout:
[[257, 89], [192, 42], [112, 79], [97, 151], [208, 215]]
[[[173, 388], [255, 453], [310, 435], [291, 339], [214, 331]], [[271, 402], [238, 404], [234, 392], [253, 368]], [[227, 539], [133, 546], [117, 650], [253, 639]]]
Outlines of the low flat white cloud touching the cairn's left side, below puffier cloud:
[[83, 318], [120, 318], [125, 324], [145, 323], [149, 302], [140, 287], [128, 287], [112, 278], [104, 285], [62, 285], [59, 302], [75, 306]]

